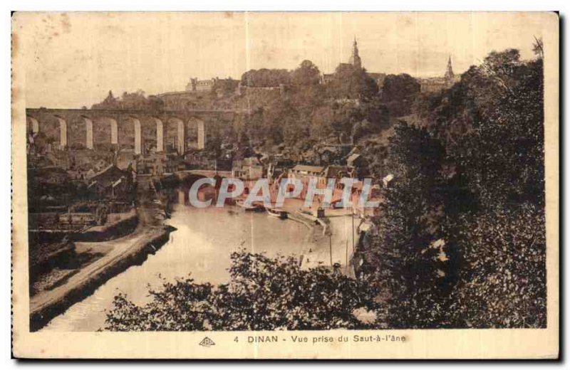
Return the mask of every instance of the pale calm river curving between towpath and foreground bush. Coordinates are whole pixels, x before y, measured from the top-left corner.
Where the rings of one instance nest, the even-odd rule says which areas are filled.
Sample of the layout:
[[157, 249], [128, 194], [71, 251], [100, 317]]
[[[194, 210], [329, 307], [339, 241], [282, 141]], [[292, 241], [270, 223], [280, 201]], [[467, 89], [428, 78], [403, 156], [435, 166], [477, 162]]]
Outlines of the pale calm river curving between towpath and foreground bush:
[[160, 287], [162, 279], [172, 281], [190, 274], [196, 282], [227, 282], [233, 251], [301, 255], [312, 243], [309, 229], [301, 223], [236, 207], [196, 209], [177, 204], [168, 223], [177, 230], [145, 263], [111, 278], [42, 330], [93, 332], [104, 327], [105, 310], [112, 307], [118, 292], [142, 304], [149, 299], [148, 285]]

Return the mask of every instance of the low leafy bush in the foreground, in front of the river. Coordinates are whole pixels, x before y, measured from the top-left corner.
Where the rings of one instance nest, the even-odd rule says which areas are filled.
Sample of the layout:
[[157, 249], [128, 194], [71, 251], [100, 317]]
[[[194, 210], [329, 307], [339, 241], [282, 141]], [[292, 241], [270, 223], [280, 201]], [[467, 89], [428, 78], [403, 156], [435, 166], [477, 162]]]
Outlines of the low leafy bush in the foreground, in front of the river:
[[105, 329], [113, 331], [308, 330], [372, 328], [355, 310], [375, 312], [375, 292], [328, 268], [301, 269], [296, 258], [232, 253], [230, 281], [165, 282], [143, 306], [117, 295]]

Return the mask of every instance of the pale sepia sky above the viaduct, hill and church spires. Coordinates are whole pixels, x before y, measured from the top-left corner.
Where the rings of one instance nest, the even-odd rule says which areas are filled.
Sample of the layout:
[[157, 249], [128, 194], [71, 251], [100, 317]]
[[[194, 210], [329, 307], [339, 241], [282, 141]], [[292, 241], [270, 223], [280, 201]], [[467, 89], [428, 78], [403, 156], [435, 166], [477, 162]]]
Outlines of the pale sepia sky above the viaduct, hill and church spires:
[[[27, 107], [73, 108], [113, 90], [181, 91], [191, 77], [240, 78], [249, 69], [331, 73], [351, 56], [375, 73], [443, 75], [480, 64], [490, 51], [532, 58], [546, 14], [514, 13], [16, 13], [14, 45]], [[548, 51], [545, 51], [548, 58]]]

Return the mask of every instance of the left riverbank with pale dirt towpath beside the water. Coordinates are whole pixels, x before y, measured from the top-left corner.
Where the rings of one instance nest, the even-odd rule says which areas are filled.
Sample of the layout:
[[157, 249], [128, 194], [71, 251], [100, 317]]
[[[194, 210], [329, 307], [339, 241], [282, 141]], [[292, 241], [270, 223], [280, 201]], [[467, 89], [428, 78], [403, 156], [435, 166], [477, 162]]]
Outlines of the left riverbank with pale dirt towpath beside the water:
[[159, 212], [158, 208], [152, 206], [140, 206], [137, 210], [138, 226], [128, 236], [100, 243], [76, 243], [76, 248], [101, 249], [106, 253], [52, 290], [31, 297], [30, 330], [41, 329], [53, 317], [91, 295], [105, 281], [132, 265], [142, 264], [149, 253], [164, 245], [170, 232], [175, 229], [162, 224], [157, 214]]

